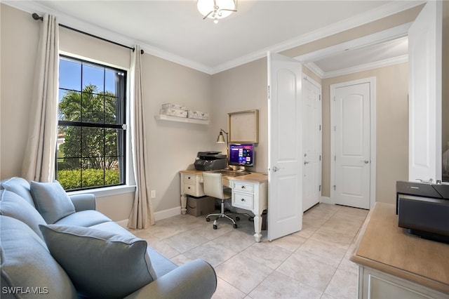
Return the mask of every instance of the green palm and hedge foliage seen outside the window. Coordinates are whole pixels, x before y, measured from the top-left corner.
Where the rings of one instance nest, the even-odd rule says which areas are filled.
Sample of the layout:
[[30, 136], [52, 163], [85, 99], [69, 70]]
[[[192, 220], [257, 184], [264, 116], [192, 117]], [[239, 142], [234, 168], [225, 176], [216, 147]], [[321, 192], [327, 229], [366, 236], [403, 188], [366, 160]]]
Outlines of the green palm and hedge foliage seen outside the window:
[[[65, 124], [117, 124], [114, 93], [98, 91], [94, 85], [81, 93], [67, 91], [58, 111]], [[123, 131], [101, 126], [59, 126], [64, 142], [58, 147], [57, 178], [65, 190], [121, 183], [118, 140]]]

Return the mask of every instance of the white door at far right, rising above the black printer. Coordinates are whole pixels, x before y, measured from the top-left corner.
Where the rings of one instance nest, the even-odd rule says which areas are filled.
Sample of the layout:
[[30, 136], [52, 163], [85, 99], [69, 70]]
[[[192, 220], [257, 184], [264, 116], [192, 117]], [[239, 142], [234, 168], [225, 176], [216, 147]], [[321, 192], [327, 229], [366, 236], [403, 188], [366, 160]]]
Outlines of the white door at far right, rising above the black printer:
[[428, 1], [408, 31], [408, 180], [441, 180], [442, 1]]

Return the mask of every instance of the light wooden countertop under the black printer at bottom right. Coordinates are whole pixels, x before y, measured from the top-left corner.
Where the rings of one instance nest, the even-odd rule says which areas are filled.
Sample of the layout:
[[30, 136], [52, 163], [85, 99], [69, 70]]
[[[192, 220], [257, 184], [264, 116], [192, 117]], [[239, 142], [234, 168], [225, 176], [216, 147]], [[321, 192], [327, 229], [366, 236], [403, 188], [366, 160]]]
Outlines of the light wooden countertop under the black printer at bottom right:
[[350, 260], [449, 293], [449, 244], [420, 239], [398, 227], [393, 204], [375, 204]]

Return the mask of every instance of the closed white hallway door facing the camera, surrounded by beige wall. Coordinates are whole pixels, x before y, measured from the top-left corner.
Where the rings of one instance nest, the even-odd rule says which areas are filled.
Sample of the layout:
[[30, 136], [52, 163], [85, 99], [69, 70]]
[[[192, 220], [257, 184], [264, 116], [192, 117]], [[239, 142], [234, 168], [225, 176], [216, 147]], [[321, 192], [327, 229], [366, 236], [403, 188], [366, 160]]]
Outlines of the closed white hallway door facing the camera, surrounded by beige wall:
[[330, 87], [335, 107], [331, 190], [335, 204], [370, 208], [370, 85], [370, 81], [353, 81]]

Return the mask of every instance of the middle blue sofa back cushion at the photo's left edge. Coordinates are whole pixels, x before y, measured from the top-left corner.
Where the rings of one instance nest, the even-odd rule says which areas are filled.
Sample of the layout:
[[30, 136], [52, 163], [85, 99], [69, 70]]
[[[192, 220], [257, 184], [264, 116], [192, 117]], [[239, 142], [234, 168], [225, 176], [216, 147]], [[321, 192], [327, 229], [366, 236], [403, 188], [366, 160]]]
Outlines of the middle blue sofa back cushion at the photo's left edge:
[[7, 190], [0, 190], [0, 215], [9, 216], [25, 222], [43, 240], [39, 225], [45, 225], [45, 220], [36, 211], [36, 208], [27, 204], [27, 201], [18, 196], [18, 194]]

